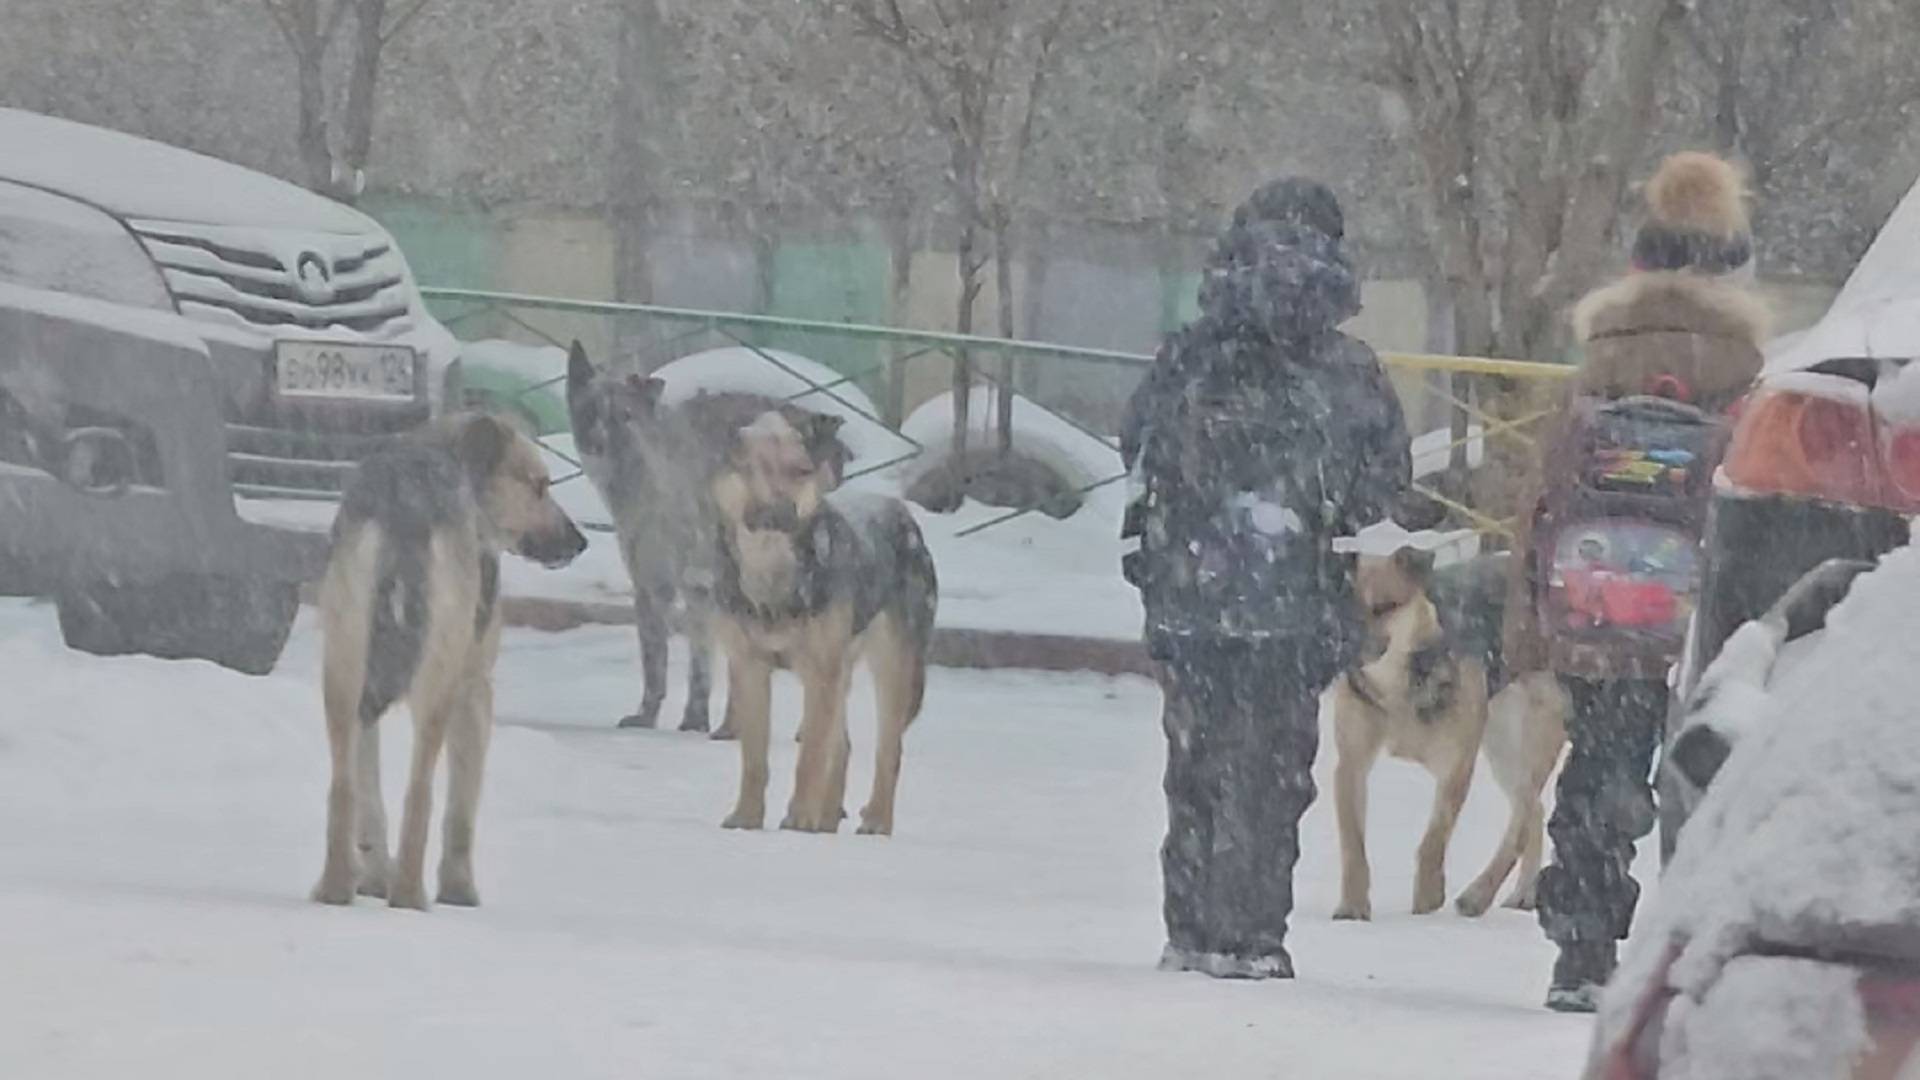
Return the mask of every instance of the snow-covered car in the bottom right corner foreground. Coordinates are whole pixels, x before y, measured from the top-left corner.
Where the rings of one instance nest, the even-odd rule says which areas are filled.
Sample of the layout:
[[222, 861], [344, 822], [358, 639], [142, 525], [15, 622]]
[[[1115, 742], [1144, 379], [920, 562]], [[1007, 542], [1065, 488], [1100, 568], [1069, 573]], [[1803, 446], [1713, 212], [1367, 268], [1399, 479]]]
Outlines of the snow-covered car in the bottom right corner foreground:
[[1682, 740], [1711, 738], [1674, 757], [1711, 786], [1601, 1001], [1590, 1080], [1920, 1070], [1916, 594], [1920, 552], [1826, 563], [1703, 675]]

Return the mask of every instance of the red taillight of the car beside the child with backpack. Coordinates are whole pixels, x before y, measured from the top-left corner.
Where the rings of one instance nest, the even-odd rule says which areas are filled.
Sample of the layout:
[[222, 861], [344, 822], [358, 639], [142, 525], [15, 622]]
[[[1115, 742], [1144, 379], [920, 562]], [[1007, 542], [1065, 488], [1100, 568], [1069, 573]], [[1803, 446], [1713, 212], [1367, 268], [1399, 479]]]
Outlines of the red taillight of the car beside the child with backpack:
[[1822, 379], [1818, 394], [1755, 392], [1726, 450], [1726, 479], [1770, 494], [1878, 505], [1874, 419], [1866, 386]]

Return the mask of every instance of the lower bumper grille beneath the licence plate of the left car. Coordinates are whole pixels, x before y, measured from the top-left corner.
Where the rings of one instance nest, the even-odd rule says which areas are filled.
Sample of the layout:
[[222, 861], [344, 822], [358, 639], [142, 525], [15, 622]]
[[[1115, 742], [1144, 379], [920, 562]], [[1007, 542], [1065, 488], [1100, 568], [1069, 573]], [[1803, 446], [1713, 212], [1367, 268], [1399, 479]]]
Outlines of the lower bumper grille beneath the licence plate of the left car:
[[263, 411], [227, 423], [227, 473], [236, 496], [336, 500], [353, 467], [397, 434], [426, 423], [409, 407]]

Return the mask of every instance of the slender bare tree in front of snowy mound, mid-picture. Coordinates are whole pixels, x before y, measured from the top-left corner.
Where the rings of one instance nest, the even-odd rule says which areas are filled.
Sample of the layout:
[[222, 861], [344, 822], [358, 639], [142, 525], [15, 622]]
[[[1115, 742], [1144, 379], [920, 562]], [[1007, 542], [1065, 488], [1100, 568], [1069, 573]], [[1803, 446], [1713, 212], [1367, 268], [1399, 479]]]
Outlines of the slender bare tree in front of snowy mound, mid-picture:
[[[973, 306], [989, 258], [1000, 334], [1014, 334], [1014, 225], [1035, 117], [1044, 102], [1054, 46], [1075, 0], [828, 0], [860, 35], [891, 50], [927, 119], [947, 144], [947, 188], [960, 223], [960, 300], [954, 329], [973, 332]], [[1085, 2], [1085, 0], [1081, 0]], [[987, 248], [983, 250], [983, 238]], [[968, 442], [973, 367], [954, 363], [954, 461]], [[1012, 398], [1000, 400], [1008, 446]]]

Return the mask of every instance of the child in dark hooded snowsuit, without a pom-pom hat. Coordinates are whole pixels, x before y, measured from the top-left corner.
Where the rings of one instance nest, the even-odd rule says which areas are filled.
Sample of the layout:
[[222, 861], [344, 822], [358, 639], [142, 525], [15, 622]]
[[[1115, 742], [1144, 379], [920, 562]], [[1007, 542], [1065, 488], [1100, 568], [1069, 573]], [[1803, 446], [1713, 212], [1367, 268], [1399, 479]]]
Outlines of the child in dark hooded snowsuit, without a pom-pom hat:
[[1400, 402], [1336, 331], [1359, 311], [1342, 231], [1321, 184], [1256, 192], [1121, 429], [1125, 573], [1165, 696], [1167, 970], [1292, 976], [1319, 694], [1361, 636], [1332, 538], [1388, 517], [1409, 482]]

